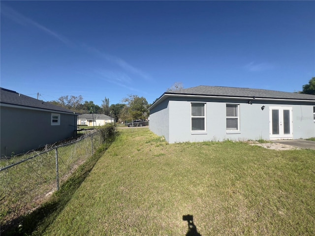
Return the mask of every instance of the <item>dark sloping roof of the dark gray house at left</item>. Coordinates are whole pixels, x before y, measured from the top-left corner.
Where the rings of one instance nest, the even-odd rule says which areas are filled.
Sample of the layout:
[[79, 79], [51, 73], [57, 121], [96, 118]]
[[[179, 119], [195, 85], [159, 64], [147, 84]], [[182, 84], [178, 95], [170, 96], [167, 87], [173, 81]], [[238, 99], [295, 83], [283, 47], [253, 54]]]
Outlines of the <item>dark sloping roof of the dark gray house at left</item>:
[[44, 109], [49, 111], [74, 114], [74, 112], [69, 109], [59, 107], [49, 102], [44, 102], [42, 100], [23, 95], [21, 93], [17, 93], [16, 91], [3, 88], [0, 88], [0, 103], [1, 105], [7, 104], [13, 106], [28, 107], [32, 109]]

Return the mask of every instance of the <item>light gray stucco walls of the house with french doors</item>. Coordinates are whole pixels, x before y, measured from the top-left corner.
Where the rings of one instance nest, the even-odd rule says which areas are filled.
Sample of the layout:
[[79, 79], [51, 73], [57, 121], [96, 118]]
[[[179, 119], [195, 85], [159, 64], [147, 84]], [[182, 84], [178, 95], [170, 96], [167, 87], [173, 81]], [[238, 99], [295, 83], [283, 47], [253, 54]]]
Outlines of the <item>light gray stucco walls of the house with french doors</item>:
[[[206, 130], [203, 132], [191, 131], [191, 103], [205, 104]], [[226, 104], [238, 105], [238, 131], [226, 130]], [[261, 109], [262, 106], [264, 110]], [[269, 140], [271, 110], [280, 107], [291, 113], [289, 138], [310, 138], [315, 134], [313, 106], [311, 102], [300, 105], [285, 101], [254, 101], [249, 104], [245, 99], [167, 98], [150, 110], [150, 130], [165, 136], [169, 143], [226, 139]]]

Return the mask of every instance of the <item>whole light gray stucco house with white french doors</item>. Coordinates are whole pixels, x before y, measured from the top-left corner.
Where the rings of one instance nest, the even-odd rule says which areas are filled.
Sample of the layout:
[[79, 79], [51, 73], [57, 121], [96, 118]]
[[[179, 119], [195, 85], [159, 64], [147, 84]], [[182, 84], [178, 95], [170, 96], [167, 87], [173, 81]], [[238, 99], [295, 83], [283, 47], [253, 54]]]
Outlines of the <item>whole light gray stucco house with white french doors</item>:
[[169, 143], [315, 137], [315, 95], [198, 86], [163, 93], [150, 130]]

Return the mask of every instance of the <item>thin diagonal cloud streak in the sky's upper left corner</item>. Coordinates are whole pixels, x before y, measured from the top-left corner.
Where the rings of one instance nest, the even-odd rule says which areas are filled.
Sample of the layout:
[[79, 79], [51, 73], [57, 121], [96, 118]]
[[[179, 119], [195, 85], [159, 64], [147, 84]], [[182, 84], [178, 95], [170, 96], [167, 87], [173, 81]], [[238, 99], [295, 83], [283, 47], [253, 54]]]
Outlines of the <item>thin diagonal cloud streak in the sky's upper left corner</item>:
[[38, 24], [37, 22], [31, 20], [30, 18], [23, 16], [22, 14], [15, 11], [11, 7], [6, 6], [5, 4], [1, 4], [1, 14], [20, 25], [23, 25], [23, 26], [31, 25], [37, 29], [40, 29], [41, 31], [49, 34], [50, 36], [57, 38], [59, 41], [63, 42], [64, 44], [70, 43], [70, 41], [66, 37]]

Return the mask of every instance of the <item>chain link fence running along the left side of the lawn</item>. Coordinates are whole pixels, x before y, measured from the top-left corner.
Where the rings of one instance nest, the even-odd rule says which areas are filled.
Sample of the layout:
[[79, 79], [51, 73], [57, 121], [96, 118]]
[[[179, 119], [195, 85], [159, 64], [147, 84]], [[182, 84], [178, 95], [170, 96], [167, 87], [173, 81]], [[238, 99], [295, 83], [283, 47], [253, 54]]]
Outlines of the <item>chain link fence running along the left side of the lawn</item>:
[[101, 143], [100, 132], [90, 131], [76, 140], [46, 146], [41, 151], [1, 158], [1, 226], [44, 203]]

